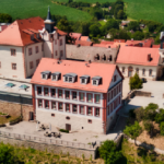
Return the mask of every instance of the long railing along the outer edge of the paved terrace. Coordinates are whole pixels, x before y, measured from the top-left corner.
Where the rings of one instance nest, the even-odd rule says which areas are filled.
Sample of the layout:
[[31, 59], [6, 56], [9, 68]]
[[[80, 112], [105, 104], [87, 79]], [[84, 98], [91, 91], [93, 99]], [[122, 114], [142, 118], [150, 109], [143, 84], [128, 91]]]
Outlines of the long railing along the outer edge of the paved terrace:
[[4, 132], [4, 131], [0, 131], [0, 137], [11, 138], [11, 139], [15, 139], [15, 140], [46, 143], [46, 144], [71, 147], [71, 148], [95, 149], [91, 144], [85, 144], [85, 143], [81, 143], [81, 142], [70, 142], [70, 141], [65, 141], [65, 140], [39, 138], [39, 137], [33, 137], [33, 136], [27, 136], [27, 134], [10, 133], [10, 132]]

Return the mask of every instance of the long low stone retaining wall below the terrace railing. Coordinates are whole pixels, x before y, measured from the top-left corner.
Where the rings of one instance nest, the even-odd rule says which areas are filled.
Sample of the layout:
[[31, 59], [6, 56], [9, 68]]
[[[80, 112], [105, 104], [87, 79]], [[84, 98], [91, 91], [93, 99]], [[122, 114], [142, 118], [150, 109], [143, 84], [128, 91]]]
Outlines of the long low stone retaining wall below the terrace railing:
[[82, 157], [82, 154], [85, 155], [85, 159], [90, 159], [91, 155], [93, 159], [96, 157], [96, 149], [81, 149], [81, 148], [71, 148], [71, 147], [63, 147], [63, 145], [56, 145], [56, 144], [47, 144], [40, 142], [33, 142], [33, 141], [24, 141], [24, 140], [16, 140], [12, 138], [0, 137], [0, 142], [5, 144], [10, 143], [12, 145], [17, 147], [25, 147], [25, 148], [33, 148], [39, 151], [46, 151], [49, 153], [59, 154], [61, 151], [63, 154], [70, 153], [71, 156]]

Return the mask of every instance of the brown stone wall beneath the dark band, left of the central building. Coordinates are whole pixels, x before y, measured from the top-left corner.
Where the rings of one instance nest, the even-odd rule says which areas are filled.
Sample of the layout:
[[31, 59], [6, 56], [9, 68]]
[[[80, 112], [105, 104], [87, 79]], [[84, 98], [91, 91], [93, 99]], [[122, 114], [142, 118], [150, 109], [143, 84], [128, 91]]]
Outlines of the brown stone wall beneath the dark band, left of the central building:
[[0, 101], [1, 113], [7, 113], [9, 115], [14, 115], [14, 116], [21, 116], [21, 108], [22, 108], [23, 119], [28, 120], [30, 112], [33, 112], [32, 105], [24, 105], [24, 104], [21, 105], [19, 103], [10, 103], [10, 102]]

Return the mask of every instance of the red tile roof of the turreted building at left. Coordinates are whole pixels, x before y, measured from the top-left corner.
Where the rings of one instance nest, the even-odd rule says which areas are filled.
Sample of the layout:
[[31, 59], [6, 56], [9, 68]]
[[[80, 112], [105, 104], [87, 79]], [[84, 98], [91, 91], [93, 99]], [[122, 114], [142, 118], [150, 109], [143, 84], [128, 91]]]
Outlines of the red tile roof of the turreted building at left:
[[25, 33], [24, 30], [43, 30], [44, 20], [38, 17], [31, 17], [25, 20], [16, 20], [11, 25], [9, 25], [5, 31], [0, 33], [0, 44], [1, 45], [13, 45], [13, 46], [24, 46], [42, 39], [35, 38], [31, 39], [31, 35]]

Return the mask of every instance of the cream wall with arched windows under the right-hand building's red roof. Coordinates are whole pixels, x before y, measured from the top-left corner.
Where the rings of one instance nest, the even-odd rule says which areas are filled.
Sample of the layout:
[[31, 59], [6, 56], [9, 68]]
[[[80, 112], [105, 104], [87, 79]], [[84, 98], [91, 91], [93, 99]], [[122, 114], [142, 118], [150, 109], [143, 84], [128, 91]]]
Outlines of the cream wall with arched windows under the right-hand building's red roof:
[[[122, 67], [125, 67], [125, 73], [122, 73], [124, 77], [128, 77], [128, 67], [132, 67], [132, 75], [136, 73], [136, 69], [139, 68], [139, 77], [140, 78], [145, 78], [148, 80], [153, 80], [157, 75], [157, 67], [152, 67], [152, 66], [137, 66], [137, 65], [124, 65], [124, 63], [118, 63], [120, 72], [122, 73]], [[145, 69], [145, 75], [142, 75], [142, 70]], [[152, 75], [149, 75], [149, 70], [152, 70]]]

